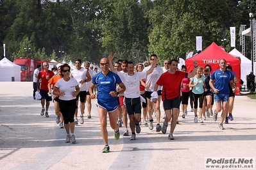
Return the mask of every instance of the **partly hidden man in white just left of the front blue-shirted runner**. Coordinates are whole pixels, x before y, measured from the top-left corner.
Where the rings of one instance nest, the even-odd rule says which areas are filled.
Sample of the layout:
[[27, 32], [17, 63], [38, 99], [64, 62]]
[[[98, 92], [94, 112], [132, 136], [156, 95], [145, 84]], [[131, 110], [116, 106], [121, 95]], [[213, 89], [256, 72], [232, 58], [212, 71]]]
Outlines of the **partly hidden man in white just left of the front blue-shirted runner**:
[[[85, 61], [85, 69], [87, 70], [87, 72], [89, 72], [90, 74], [90, 77], [92, 78], [96, 72], [94, 72], [94, 70], [90, 70], [89, 67], [90, 67], [90, 63], [89, 61]], [[92, 100], [90, 99], [90, 93], [89, 93], [89, 87], [90, 87], [90, 83], [92, 81], [88, 81], [86, 82], [86, 101], [87, 101], [87, 111], [88, 111], [88, 115], [87, 115], [87, 118], [92, 118], [92, 116], [90, 115], [90, 111], [92, 110]]]

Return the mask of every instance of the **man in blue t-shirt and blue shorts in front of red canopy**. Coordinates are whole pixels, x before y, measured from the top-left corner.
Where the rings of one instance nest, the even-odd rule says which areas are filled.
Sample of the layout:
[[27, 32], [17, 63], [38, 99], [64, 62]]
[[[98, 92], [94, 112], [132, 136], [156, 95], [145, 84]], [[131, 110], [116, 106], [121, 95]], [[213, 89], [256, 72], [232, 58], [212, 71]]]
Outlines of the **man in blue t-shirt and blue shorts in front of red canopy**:
[[223, 121], [225, 120], [226, 113], [228, 112], [228, 98], [229, 98], [229, 88], [233, 88], [233, 76], [232, 73], [226, 70], [226, 60], [219, 60], [219, 69], [214, 71], [210, 77], [210, 87], [214, 91], [214, 100], [216, 105], [216, 110], [214, 111], [213, 119], [217, 120], [218, 112], [221, 111], [221, 103], [223, 103], [223, 111], [221, 113], [221, 121], [219, 123], [219, 128], [224, 130]]

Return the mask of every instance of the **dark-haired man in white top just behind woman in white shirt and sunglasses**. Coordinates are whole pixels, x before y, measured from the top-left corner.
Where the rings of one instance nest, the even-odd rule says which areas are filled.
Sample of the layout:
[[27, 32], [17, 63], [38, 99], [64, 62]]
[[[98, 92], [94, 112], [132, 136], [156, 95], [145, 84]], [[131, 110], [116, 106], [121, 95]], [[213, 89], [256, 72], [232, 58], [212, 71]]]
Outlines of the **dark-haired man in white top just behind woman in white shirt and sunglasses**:
[[[86, 93], [87, 93], [87, 88], [86, 88], [86, 83], [85, 82], [89, 82], [92, 80], [92, 78], [90, 77], [89, 72], [87, 72], [87, 70], [85, 70], [85, 68], [81, 67], [81, 59], [76, 59], [74, 61], [74, 65], [76, 66], [76, 69], [74, 69], [71, 72], [71, 77], [74, 77], [74, 79], [76, 79], [76, 81], [79, 84], [79, 88], [80, 88], [80, 92], [79, 94], [76, 96], [76, 105], [78, 106], [78, 99], [80, 97], [80, 123], [83, 124], [84, 120], [83, 120], [83, 114], [85, 113], [85, 98], [86, 98]], [[78, 125], [78, 109], [76, 109], [76, 112], [74, 113], [74, 124]]]

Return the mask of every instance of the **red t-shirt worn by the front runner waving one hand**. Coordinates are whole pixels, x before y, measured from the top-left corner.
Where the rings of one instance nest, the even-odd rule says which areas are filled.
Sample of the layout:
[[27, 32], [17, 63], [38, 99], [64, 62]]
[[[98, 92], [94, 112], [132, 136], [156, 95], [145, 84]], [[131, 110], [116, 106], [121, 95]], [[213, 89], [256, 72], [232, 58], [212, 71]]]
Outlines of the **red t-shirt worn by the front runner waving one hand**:
[[165, 72], [158, 81], [158, 86], [162, 88], [162, 101], [180, 96], [180, 83], [185, 77], [185, 72], [176, 71], [175, 73]]

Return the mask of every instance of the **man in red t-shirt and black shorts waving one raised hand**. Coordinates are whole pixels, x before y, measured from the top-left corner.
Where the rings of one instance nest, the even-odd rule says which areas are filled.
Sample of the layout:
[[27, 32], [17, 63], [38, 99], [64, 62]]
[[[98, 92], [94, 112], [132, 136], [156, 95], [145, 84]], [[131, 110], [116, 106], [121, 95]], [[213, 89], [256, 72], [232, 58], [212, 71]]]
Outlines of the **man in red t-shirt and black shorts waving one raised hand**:
[[154, 92], [151, 94], [153, 102], [157, 102], [157, 88], [162, 86], [162, 101], [164, 104], [164, 111], [166, 118], [162, 126], [162, 133], [166, 134], [168, 122], [171, 120], [171, 130], [168, 139], [173, 140], [173, 131], [176, 127], [176, 120], [180, 107], [180, 84], [182, 79], [187, 75], [188, 78], [194, 77], [196, 68], [198, 68], [198, 61], [193, 61], [194, 69], [191, 73], [178, 71], [178, 61], [171, 59], [170, 69], [160, 75], [157, 83], [154, 86]]

